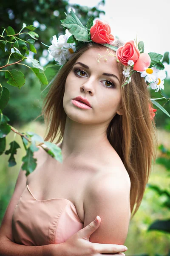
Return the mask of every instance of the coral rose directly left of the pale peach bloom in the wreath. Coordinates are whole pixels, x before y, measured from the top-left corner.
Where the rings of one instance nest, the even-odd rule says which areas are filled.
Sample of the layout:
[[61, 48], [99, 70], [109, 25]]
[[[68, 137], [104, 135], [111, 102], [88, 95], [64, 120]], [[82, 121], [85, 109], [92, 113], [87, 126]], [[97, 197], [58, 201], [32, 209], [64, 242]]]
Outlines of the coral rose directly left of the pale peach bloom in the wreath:
[[118, 60], [125, 66], [127, 66], [127, 62], [129, 60], [134, 63], [140, 56], [139, 49], [136, 48], [134, 41], [128, 41], [124, 46], [121, 46], [116, 51], [116, 56]]

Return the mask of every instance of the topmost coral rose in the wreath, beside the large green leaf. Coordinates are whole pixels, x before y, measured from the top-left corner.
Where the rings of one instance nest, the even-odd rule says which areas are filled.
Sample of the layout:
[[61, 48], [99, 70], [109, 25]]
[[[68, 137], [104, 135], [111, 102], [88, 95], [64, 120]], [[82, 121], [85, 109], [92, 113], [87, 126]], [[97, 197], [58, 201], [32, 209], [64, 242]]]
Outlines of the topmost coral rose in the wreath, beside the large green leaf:
[[91, 27], [91, 40], [97, 44], [113, 44], [114, 36], [111, 35], [111, 27], [108, 22], [96, 20], [96, 24]]

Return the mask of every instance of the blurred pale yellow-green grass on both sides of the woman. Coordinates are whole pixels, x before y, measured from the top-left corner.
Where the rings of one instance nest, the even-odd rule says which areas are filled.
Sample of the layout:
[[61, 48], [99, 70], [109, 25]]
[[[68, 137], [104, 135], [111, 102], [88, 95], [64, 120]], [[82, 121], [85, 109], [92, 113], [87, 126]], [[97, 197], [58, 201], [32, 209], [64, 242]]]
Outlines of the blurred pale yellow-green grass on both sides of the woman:
[[[16, 126], [15, 126], [16, 127]], [[17, 127], [16, 127], [17, 128]], [[45, 136], [45, 125], [38, 122], [30, 122], [28, 125], [18, 128], [19, 131], [32, 131], [40, 136]], [[14, 140], [14, 133], [7, 136], [7, 145]], [[15, 137], [17, 143], [22, 145], [20, 136]], [[159, 144], [164, 144], [170, 148], [170, 133], [163, 129], [158, 130]], [[8, 147], [6, 148], [8, 149]], [[17, 165], [8, 168], [9, 155], [0, 156], [0, 219], [3, 218], [6, 206], [14, 191], [15, 182], [22, 163], [22, 157], [25, 155], [23, 146], [16, 155]], [[149, 183], [159, 185], [162, 189], [168, 188], [169, 179], [166, 169], [156, 164], [150, 175]], [[157, 254], [165, 255], [170, 250], [170, 235], [159, 231], [147, 231], [149, 225], [156, 219], [169, 218], [170, 213], [166, 208], [161, 207], [164, 197], [159, 197], [156, 192], [146, 188], [142, 204], [134, 218], [130, 221], [129, 231], [125, 245], [128, 247], [127, 256], [139, 253], [147, 253], [150, 256]]]

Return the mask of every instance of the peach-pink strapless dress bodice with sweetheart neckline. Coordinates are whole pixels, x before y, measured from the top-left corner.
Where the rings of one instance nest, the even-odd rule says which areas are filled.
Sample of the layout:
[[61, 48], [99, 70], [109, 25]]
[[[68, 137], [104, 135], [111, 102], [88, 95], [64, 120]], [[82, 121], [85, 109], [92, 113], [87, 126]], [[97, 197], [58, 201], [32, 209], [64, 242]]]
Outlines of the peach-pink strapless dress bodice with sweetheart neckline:
[[65, 198], [37, 200], [28, 185], [18, 201], [12, 232], [17, 244], [59, 244], [83, 228], [74, 204]]

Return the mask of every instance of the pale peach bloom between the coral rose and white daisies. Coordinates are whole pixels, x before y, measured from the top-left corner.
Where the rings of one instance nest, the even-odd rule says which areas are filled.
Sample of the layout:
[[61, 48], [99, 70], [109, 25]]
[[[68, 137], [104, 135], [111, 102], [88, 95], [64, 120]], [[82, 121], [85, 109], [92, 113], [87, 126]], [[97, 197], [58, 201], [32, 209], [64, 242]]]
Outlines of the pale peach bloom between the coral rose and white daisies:
[[149, 54], [141, 53], [138, 60], [135, 62], [134, 66], [133, 66], [133, 70], [142, 72], [150, 66], [150, 62], [151, 62], [151, 59], [150, 59]]

